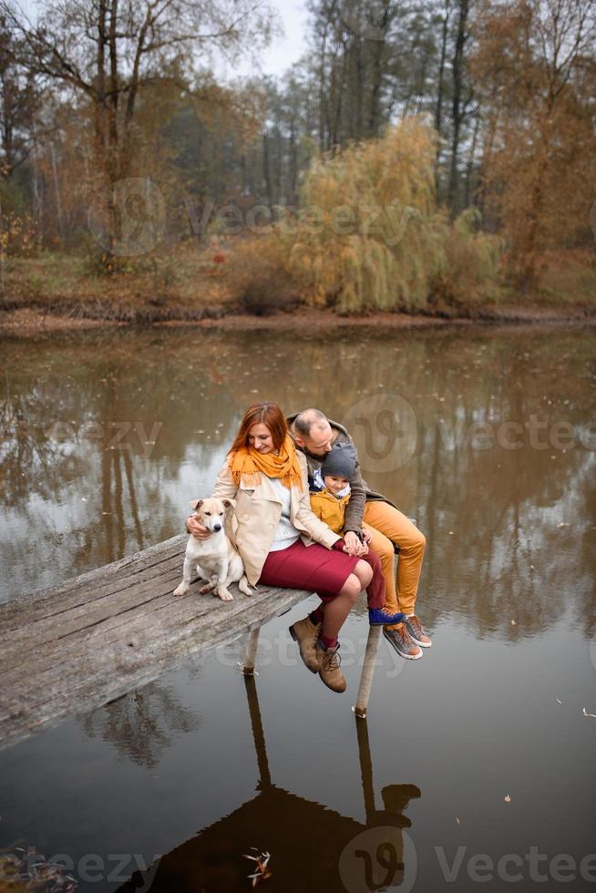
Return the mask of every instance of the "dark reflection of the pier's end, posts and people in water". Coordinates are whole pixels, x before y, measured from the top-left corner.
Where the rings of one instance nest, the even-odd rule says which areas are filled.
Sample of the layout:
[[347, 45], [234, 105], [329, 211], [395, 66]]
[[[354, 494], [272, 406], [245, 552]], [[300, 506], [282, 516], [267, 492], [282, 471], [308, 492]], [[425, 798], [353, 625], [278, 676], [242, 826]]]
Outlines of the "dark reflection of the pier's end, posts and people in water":
[[[376, 809], [363, 720], [357, 721], [357, 732], [365, 823], [274, 785], [255, 682], [247, 677], [245, 683], [260, 775], [258, 793], [162, 857], [150, 893], [246, 891], [254, 865], [244, 857], [251, 853], [250, 847], [271, 853], [272, 876], [266, 881], [270, 893], [375, 890], [382, 888], [382, 881], [385, 887], [399, 887], [407, 868], [403, 829], [411, 825], [403, 811], [411, 799], [420, 796], [419, 789], [415, 785], [387, 785], [382, 792], [383, 808]], [[350, 886], [350, 878], [352, 883], [358, 879], [357, 887]], [[139, 874], [133, 875], [118, 893], [132, 893], [144, 882]]]

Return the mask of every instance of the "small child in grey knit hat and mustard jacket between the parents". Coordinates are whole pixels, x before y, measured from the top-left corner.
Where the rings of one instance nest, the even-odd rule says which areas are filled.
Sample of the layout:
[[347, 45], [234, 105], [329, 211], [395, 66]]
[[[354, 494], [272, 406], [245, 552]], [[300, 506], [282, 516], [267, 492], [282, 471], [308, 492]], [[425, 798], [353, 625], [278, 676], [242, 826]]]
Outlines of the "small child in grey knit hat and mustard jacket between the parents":
[[[356, 451], [352, 444], [335, 444], [327, 453], [323, 464], [309, 477], [311, 509], [317, 518], [342, 535], [344, 531], [345, 507], [350, 500], [350, 481], [355, 473]], [[365, 543], [370, 534], [363, 534]], [[385, 579], [381, 559], [376, 552], [368, 551], [361, 556], [373, 570], [373, 579], [366, 590], [368, 599], [368, 621], [371, 626], [385, 623], [400, 623], [404, 614], [385, 611]], [[317, 619], [318, 620], [318, 619]]]

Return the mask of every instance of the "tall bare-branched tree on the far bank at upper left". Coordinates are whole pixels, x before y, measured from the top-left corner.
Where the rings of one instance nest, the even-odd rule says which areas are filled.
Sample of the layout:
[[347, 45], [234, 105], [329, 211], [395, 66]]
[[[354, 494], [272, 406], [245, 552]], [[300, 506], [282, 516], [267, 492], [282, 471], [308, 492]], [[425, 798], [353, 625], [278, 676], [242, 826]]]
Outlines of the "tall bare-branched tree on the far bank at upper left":
[[[215, 51], [256, 52], [273, 28], [264, 0], [48, 0], [35, 23], [3, 0], [0, 15], [17, 38], [19, 63], [90, 107], [108, 255], [118, 241], [118, 184], [133, 166], [142, 90], [188, 74]], [[180, 87], [186, 83], [180, 77]]]

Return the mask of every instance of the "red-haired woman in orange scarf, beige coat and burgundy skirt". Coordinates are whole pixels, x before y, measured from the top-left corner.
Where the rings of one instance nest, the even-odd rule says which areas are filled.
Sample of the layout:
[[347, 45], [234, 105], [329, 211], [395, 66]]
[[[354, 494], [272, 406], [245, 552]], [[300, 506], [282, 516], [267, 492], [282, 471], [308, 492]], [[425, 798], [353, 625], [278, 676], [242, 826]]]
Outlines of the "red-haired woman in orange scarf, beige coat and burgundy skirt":
[[[306, 459], [288, 435], [276, 403], [245, 412], [213, 496], [234, 499], [226, 532], [241, 554], [249, 583], [316, 591], [324, 601], [312, 621], [291, 632], [309, 670], [334, 692], [344, 692], [337, 635], [373, 572], [310, 507]], [[190, 533], [209, 535], [196, 517]], [[345, 550], [344, 550], [345, 549]], [[308, 629], [306, 629], [308, 627]]]

